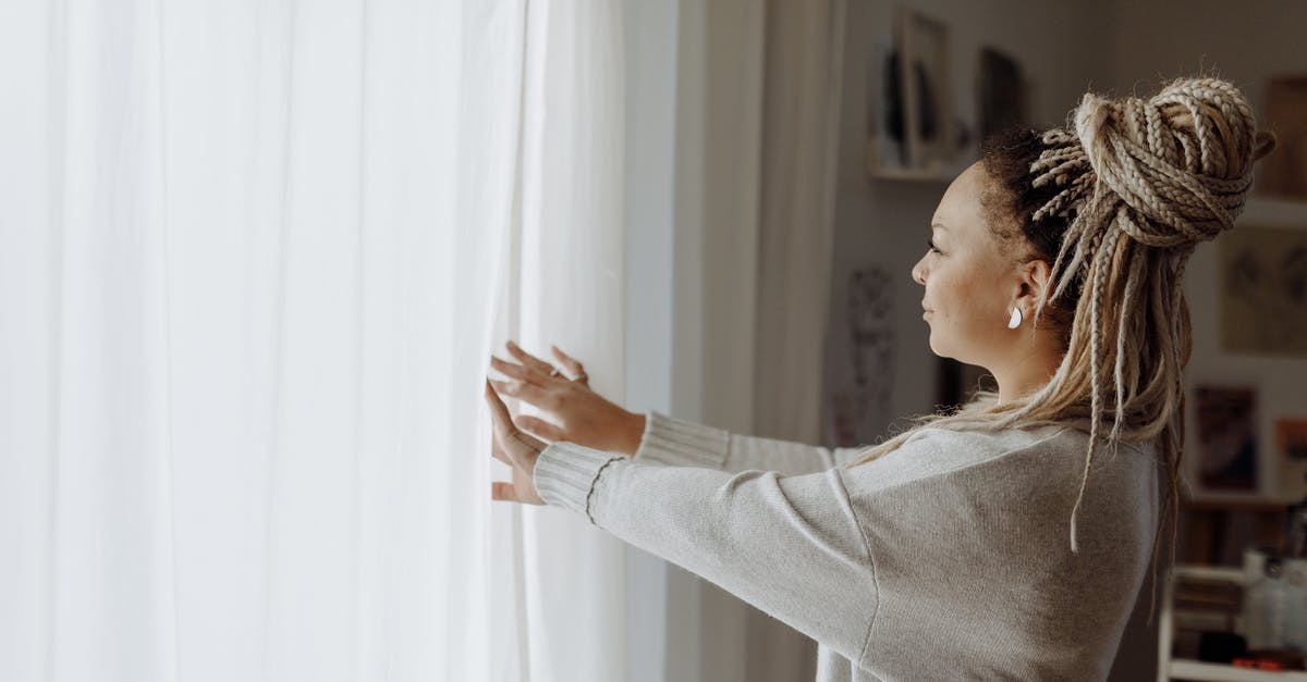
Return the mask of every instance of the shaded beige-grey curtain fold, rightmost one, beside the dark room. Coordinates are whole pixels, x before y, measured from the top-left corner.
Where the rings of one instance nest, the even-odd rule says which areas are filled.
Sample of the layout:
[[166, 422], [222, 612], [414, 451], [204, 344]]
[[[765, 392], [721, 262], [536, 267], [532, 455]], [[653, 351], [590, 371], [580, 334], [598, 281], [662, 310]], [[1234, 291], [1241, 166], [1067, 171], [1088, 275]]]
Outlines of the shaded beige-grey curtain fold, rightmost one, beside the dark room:
[[[817, 443], [834, 243], [846, 0], [767, 1], [753, 423]], [[749, 679], [812, 675], [816, 644], [749, 613]]]

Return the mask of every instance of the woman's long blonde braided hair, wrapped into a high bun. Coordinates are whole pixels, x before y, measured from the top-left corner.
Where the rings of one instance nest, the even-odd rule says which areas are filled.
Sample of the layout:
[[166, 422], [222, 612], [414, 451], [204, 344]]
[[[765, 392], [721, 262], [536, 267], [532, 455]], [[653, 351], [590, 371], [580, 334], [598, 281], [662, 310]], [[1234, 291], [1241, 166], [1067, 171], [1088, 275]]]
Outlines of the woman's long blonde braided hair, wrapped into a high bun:
[[[1014, 201], [1017, 218], [1030, 243], [1043, 235], [1056, 244], [1052, 286], [1033, 327], [1046, 307], [1056, 312], [1051, 319], [1064, 329], [1067, 349], [1057, 371], [1039, 391], [1001, 405], [993, 392], [980, 392], [954, 413], [918, 417], [847, 466], [882, 457], [928, 426], [999, 431], [1087, 419], [1089, 448], [1070, 511], [1070, 549], [1078, 553], [1076, 517], [1100, 440], [1114, 451], [1123, 440], [1158, 443], [1174, 529], [1184, 444], [1182, 371], [1192, 350], [1184, 268], [1199, 242], [1234, 227], [1253, 161], [1274, 148], [1274, 137], [1257, 132], [1244, 97], [1217, 78], [1176, 80], [1146, 101], [1086, 93], [1065, 128], [1026, 135], [1035, 137], [1038, 158], [996, 179], [1026, 200], [1040, 197], [1023, 212]], [[1050, 247], [1035, 246], [1033, 257], [1048, 260]], [[1085, 286], [1089, 295], [1081, 294]], [[1106, 418], [1112, 423], [1102, 436]], [[1153, 541], [1154, 601], [1165, 521], [1158, 519]], [[1168, 572], [1174, 563], [1172, 534]]]

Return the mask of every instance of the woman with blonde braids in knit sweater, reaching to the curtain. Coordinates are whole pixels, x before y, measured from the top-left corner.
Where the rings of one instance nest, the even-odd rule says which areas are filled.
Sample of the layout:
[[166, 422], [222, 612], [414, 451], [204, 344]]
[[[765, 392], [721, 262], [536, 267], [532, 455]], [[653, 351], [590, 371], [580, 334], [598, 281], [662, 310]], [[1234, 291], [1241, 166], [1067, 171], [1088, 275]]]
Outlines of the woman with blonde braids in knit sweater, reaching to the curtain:
[[514, 482], [491, 495], [586, 513], [784, 621], [821, 681], [1102, 679], [1178, 513], [1184, 264], [1273, 146], [1213, 78], [987, 141], [912, 277], [931, 349], [999, 391], [870, 448], [631, 414], [510, 344], [486, 397]]

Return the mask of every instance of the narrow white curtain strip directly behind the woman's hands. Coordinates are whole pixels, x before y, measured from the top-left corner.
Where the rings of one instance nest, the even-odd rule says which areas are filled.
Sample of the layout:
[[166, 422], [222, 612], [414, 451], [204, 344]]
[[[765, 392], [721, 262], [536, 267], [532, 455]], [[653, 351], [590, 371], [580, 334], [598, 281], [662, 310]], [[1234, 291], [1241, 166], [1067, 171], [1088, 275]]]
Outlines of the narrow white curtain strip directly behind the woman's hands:
[[[622, 5], [531, 0], [523, 105], [518, 250], [503, 273], [495, 353], [515, 338], [554, 362], [549, 346], [586, 365], [591, 387], [625, 393]], [[510, 401], [511, 404], [512, 401]], [[510, 405], [512, 406], [512, 405]], [[535, 413], [521, 405], [527, 413]], [[507, 481], [506, 465], [494, 464]], [[505, 506], [495, 583], [525, 604], [525, 626], [505, 628], [532, 682], [626, 678], [623, 544], [583, 516]], [[520, 547], [520, 551], [518, 551]], [[507, 601], [507, 600], [506, 600]], [[499, 621], [514, 618], [506, 608]]]

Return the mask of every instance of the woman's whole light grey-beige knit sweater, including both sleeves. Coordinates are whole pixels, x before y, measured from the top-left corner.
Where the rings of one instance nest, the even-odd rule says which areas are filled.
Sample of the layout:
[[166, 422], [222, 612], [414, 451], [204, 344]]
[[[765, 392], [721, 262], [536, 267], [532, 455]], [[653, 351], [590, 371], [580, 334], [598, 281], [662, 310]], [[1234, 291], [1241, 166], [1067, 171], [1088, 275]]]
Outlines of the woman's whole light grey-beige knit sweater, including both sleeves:
[[818, 682], [1103, 679], [1151, 558], [1153, 448], [925, 429], [880, 460], [650, 412], [634, 459], [553, 443], [540, 496], [818, 643]]

